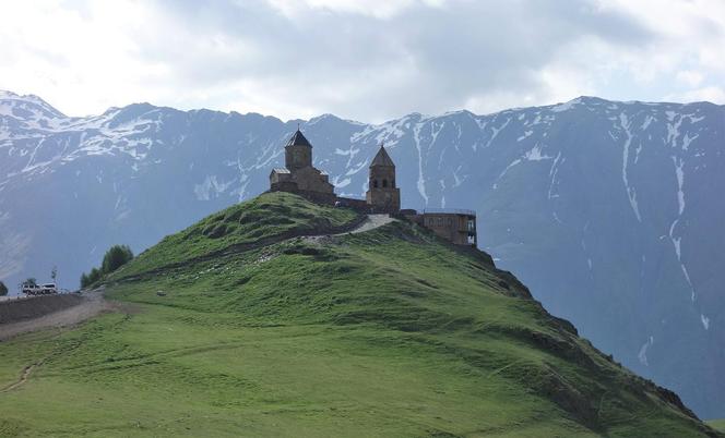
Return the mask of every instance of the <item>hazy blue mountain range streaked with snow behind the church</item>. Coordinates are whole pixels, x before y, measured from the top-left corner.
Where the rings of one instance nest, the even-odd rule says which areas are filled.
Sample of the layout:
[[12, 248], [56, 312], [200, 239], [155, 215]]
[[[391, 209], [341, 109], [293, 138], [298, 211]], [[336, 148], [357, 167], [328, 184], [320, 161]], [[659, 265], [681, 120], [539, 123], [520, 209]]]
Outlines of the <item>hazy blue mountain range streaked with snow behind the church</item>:
[[[266, 190], [298, 121], [148, 104], [69, 118], [0, 92], [0, 279], [78, 285]], [[482, 248], [596, 346], [725, 416], [725, 107], [593, 97], [371, 125], [299, 121], [338, 194], [364, 196], [380, 143], [403, 206], [478, 211]], [[48, 273], [46, 273], [48, 272]]]

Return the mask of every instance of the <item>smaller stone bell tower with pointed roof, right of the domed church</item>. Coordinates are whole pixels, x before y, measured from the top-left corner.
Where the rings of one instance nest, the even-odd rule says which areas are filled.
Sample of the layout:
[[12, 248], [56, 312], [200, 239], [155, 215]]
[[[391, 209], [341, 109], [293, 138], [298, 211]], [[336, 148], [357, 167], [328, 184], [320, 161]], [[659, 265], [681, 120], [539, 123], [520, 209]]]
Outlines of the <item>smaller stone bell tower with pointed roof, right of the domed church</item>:
[[376, 212], [394, 214], [401, 209], [401, 190], [395, 186], [395, 163], [384, 146], [380, 146], [370, 163], [365, 200]]

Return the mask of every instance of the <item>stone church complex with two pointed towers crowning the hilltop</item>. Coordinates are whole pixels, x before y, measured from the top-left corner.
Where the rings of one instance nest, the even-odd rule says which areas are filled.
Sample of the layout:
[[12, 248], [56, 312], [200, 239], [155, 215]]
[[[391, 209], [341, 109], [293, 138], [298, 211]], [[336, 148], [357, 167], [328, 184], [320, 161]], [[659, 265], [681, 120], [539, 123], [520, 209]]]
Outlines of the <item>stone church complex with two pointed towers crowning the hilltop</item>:
[[290, 192], [318, 204], [354, 208], [367, 214], [389, 214], [425, 227], [459, 245], [476, 241], [476, 214], [471, 210], [401, 210], [401, 190], [395, 181], [395, 163], [380, 146], [370, 162], [365, 199], [340, 197], [328, 173], [312, 166], [312, 144], [299, 129], [285, 145], [285, 167], [270, 173], [270, 192]]

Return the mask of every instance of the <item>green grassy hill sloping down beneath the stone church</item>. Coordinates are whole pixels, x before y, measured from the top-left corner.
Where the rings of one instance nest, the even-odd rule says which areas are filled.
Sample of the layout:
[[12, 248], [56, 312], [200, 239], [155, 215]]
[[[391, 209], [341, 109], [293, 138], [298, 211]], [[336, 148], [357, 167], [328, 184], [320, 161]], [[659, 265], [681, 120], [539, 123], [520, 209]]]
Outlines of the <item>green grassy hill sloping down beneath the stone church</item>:
[[268, 194], [108, 279], [120, 311], [0, 344], [0, 436], [717, 436], [490, 258]]

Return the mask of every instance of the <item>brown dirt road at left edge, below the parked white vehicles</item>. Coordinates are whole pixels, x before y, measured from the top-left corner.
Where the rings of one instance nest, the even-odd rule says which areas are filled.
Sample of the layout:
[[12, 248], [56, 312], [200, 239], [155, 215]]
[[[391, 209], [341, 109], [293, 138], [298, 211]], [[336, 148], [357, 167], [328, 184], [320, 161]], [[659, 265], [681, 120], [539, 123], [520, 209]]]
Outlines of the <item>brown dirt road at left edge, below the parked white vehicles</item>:
[[[0, 341], [44, 328], [72, 326], [92, 318], [104, 311], [115, 308], [112, 303], [104, 300], [103, 291], [85, 292], [82, 297], [83, 300], [73, 307], [54, 312], [38, 318], [0, 324]], [[43, 300], [43, 297], [36, 300]]]

